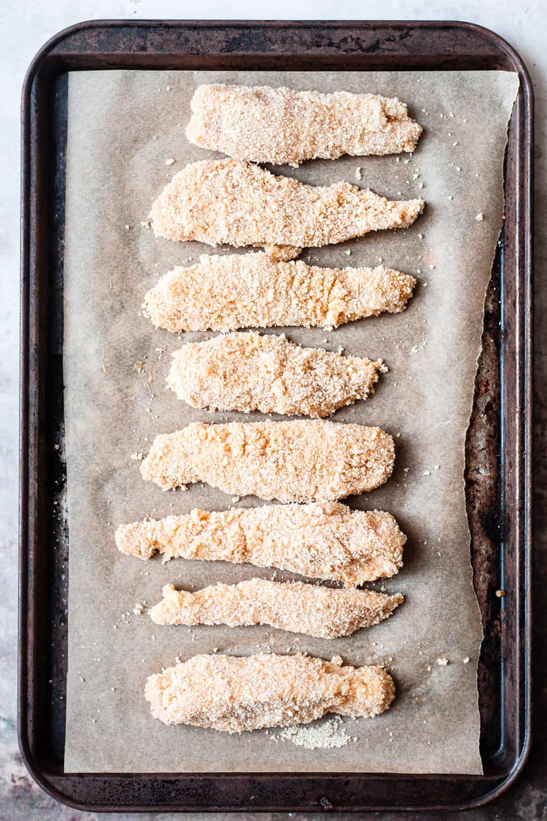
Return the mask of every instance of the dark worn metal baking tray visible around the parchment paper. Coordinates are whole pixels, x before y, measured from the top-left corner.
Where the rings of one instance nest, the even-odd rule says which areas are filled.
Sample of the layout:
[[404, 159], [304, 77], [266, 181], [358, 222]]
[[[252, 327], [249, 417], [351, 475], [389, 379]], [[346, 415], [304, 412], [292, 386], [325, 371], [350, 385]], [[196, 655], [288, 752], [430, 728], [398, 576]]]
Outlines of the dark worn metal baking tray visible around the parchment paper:
[[[67, 72], [517, 71], [505, 220], [466, 443], [483, 776], [63, 772], [69, 534], [63, 511], [62, 282]], [[533, 93], [497, 34], [461, 22], [92, 21], [39, 51], [22, 97], [19, 718], [21, 754], [81, 810], [460, 810], [517, 778], [531, 744]], [[53, 443], [60, 445], [57, 452]], [[59, 455], [61, 458], [59, 458]], [[504, 589], [502, 599], [495, 591]]]

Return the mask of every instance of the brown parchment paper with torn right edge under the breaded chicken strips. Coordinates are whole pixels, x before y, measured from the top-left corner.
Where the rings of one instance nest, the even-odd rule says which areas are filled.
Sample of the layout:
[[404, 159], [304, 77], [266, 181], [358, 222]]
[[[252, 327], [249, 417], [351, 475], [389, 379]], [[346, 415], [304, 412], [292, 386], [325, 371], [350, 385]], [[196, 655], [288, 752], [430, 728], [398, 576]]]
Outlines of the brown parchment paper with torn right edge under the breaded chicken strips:
[[[397, 444], [394, 475], [349, 504], [383, 508], [408, 534], [404, 569], [372, 585], [402, 591], [388, 621], [340, 640], [267, 627], [156, 626], [136, 603], [153, 605], [162, 585], [195, 589], [272, 571], [221, 562], [118, 553], [114, 530], [145, 516], [193, 507], [226, 510], [230, 497], [197, 484], [163, 493], [144, 482], [131, 455], [157, 433], [210, 415], [166, 391], [171, 351], [213, 334], [154, 330], [139, 314], [144, 292], [175, 264], [211, 252], [154, 239], [141, 225], [162, 186], [185, 163], [216, 156], [189, 144], [189, 100], [201, 82], [397, 95], [425, 126], [413, 158], [341, 158], [279, 172], [328, 185], [346, 179], [391, 198], [417, 195], [426, 211], [413, 227], [310, 250], [317, 264], [383, 261], [417, 277], [403, 314], [384, 314], [326, 333], [289, 328], [310, 346], [383, 358], [390, 368], [374, 397], [338, 421], [378, 424]], [[375, 771], [481, 773], [476, 662], [481, 621], [472, 589], [463, 492], [464, 438], [481, 345], [485, 287], [503, 213], [502, 163], [517, 75], [500, 71], [337, 74], [312, 72], [102, 71], [73, 73], [66, 167], [65, 413], [70, 532], [67, 772]], [[166, 159], [175, 163], [166, 166]], [[476, 215], [482, 213], [483, 220]], [[347, 255], [351, 251], [351, 255]], [[221, 252], [230, 253], [229, 249]], [[281, 333], [271, 330], [267, 333]], [[144, 363], [139, 365], [139, 363]], [[135, 367], [136, 366], [136, 367]], [[253, 506], [255, 498], [235, 502]], [[277, 574], [278, 580], [290, 574]], [[388, 713], [348, 720], [358, 741], [335, 750], [275, 743], [265, 732], [230, 736], [165, 727], [144, 700], [148, 675], [198, 653], [260, 650], [385, 663], [397, 685]], [[441, 665], [438, 658], [447, 658]], [[465, 663], [465, 659], [469, 659]]]

